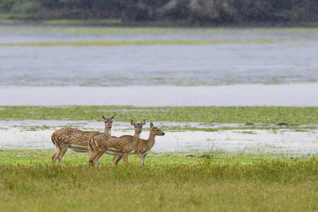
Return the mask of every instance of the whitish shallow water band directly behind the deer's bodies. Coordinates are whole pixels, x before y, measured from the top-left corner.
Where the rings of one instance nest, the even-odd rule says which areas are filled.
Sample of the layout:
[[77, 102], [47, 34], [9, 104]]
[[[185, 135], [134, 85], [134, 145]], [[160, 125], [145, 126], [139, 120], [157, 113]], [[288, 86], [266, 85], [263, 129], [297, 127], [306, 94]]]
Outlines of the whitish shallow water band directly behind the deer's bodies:
[[[1, 130], [0, 148], [54, 149], [50, 136], [53, 130], [20, 131], [16, 128]], [[153, 152], [195, 153], [225, 151], [232, 153], [273, 153], [288, 155], [318, 154], [318, 131], [278, 131], [267, 130], [230, 131], [166, 131], [165, 136], [157, 136]], [[133, 131], [112, 131], [113, 136], [133, 134]], [[142, 132], [147, 139], [149, 132]]]

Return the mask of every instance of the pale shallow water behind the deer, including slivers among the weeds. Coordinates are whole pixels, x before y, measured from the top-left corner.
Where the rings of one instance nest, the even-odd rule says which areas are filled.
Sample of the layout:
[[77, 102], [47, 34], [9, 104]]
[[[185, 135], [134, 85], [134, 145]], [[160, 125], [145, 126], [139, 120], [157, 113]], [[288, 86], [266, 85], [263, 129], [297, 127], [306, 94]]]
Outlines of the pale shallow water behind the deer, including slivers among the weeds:
[[[155, 126], [195, 126], [205, 127], [198, 122], [173, 123], [155, 122]], [[50, 129], [41, 129], [42, 125]], [[54, 149], [50, 136], [55, 129], [64, 125], [77, 129], [92, 128], [103, 131], [103, 122], [21, 120], [0, 121], [0, 148]], [[242, 126], [242, 124], [215, 124], [216, 126]], [[119, 130], [118, 130], [119, 129]], [[126, 130], [120, 130], [126, 129]], [[115, 122], [112, 135], [134, 133], [129, 123]], [[234, 129], [227, 131], [165, 131], [165, 136], [157, 136], [152, 151], [170, 153], [195, 153], [225, 151], [232, 153], [274, 153], [288, 155], [318, 154], [318, 131], [293, 131], [289, 129], [251, 130]], [[141, 134], [147, 139], [148, 128]]]

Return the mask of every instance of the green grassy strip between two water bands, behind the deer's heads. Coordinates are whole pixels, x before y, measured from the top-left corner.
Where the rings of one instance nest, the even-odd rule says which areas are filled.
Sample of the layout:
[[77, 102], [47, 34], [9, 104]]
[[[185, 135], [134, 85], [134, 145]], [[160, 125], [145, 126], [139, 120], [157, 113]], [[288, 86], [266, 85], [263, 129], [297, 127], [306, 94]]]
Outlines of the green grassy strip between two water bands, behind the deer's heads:
[[115, 122], [318, 124], [318, 107], [1, 106], [0, 119], [100, 121], [101, 114], [115, 114]]

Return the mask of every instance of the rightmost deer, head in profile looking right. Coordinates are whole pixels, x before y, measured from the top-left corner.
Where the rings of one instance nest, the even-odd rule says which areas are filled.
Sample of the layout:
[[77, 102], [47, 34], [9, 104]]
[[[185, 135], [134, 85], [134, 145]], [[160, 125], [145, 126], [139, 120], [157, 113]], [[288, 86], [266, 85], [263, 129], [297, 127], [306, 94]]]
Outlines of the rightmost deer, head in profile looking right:
[[[140, 139], [139, 143], [137, 144], [137, 147], [135, 149], [134, 154], [138, 155], [140, 158], [140, 163], [144, 165], [144, 160], [146, 158], [146, 155], [150, 152], [152, 147], [154, 146], [154, 139], [156, 136], [164, 136], [164, 132], [161, 131], [159, 128], [155, 127], [154, 124], [150, 123], [150, 132], [149, 132], [149, 139]], [[117, 157], [116, 155], [115, 157]], [[118, 162], [120, 161], [120, 158], [118, 160], [113, 159], [114, 165], [118, 165]]]

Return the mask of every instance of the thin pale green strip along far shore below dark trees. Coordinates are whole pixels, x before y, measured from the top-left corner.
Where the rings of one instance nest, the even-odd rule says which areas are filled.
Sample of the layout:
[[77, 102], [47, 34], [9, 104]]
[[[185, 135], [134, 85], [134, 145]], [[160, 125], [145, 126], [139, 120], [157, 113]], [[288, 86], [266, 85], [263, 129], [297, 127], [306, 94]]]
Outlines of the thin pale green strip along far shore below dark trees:
[[[0, 14], [1, 20], [1, 14]], [[55, 20], [52, 20], [55, 21]], [[63, 20], [61, 20], [63, 21]], [[70, 21], [70, 20], [67, 20]], [[76, 20], [78, 21], [78, 20]], [[228, 35], [243, 33], [244, 35], [316, 35], [318, 28], [155, 28], [155, 27], [67, 27], [58, 25], [28, 25], [21, 28], [16, 25], [3, 25], [0, 34], [8, 35], [11, 33], [19, 34], [46, 34], [62, 33], [67, 35]]]

